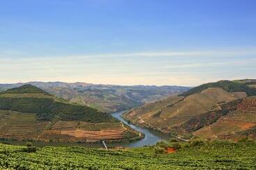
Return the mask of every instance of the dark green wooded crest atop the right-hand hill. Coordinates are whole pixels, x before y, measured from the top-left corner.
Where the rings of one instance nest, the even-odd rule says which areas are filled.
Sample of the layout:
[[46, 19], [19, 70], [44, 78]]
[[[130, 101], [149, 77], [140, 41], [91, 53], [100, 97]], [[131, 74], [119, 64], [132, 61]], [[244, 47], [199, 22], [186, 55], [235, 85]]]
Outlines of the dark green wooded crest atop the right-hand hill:
[[191, 94], [196, 94], [199, 92], [202, 92], [203, 90], [206, 90], [209, 87], [219, 87], [223, 90], [226, 90], [227, 92], [246, 92], [248, 96], [255, 96], [256, 90], [253, 88], [248, 87], [244, 83], [238, 83], [236, 81], [229, 81], [229, 80], [220, 80], [216, 83], [206, 83], [204, 85], [199, 85], [197, 87], [194, 87], [187, 92], [184, 92], [183, 94], [180, 94], [180, 96], [190, 96]]

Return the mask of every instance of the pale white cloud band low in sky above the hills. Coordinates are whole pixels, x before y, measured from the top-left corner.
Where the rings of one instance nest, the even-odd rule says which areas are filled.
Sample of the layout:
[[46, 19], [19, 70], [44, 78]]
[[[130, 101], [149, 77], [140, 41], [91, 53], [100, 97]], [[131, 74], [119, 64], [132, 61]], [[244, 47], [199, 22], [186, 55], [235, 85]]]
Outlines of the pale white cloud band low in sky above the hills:
[[253, 78], [254, 56], [253, 48], [26, 58], [0, 56], [0, 83], [61, 80], [121, 85], [199, 85], [221, 79]]

